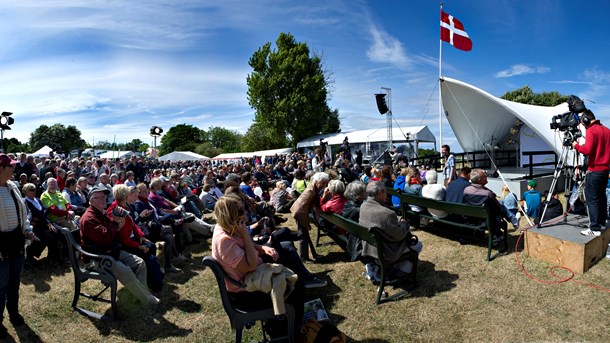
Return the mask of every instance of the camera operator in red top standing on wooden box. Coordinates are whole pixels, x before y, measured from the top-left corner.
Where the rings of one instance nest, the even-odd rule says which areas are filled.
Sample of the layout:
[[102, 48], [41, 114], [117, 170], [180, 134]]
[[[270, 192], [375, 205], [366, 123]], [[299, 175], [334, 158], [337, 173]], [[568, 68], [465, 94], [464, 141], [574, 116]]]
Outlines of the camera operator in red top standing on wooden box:
[[585, 236], [599, 236], [606, 229], [606, 185], [610, 169], [610, 129], [603, 126], [590, 110], [580, 118], [585, 127], [585, 145], [572, 143], [577, 152], [589, 158], [585, 179], [585, 197], [589, 210], [589, 229], [581, 231]]

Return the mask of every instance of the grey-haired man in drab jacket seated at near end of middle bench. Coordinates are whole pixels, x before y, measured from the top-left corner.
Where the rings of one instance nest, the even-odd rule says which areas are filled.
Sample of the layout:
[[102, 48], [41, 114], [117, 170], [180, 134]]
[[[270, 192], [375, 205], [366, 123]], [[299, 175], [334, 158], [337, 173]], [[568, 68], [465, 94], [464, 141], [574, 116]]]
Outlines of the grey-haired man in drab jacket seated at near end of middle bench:
[[[409, 231], [409, 222], [398, 218], [394, 210], [386, 207], [386, 187], [383, 181], [369, 182], [366, 186], [366, 201], [360, 206], [360, 219], [358, 223], [364, 227], [374, 227], [379, 230], [384, 238], [384, 258], [390, 263], [395, 263], [401, 257], [413, 251], [417, 253], [422, 250], [422, 243], [413, 244], [412, 234]], [[362, 255], [377, 258], [377, 248], [367, 242], [362, 242]], [[394, 267], [403, 273], [414, 274], [413, 266], [415, 260], [405, 260], [395, 263]], [[415, 281], [415, 280], [412, 280]]]

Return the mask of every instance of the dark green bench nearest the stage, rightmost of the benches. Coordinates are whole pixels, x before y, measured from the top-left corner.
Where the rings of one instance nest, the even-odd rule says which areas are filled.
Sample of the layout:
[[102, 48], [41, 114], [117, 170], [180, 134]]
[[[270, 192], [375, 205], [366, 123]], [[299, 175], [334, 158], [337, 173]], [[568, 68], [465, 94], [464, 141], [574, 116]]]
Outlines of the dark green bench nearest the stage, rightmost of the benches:
[[[387, 190], [388, 194], [390, 194], [390, 189], [388, 188]], [[481, 206], [475, 206], [419, 197], [400, 192], [396, 189], [393, 189], [391, 192], [400, 197], [400, 206], [402, 208], [402, 213], [404, 214], [404, 217], [411, 219], [412, 225], [416, 227], [419, 227], [421, 218], [426, 218], [431, 221], [428, 223], [427, 227], [432, 227], [434, 229], [447, 232], [449, 234], [455, 234], [455, 230], [451, 230], [452, 227], [470, 230], [473, 232], [474, 238], [476, 238], [477, 233], [482, 233], [483, 241], [487, 241], [487, 261], [491, 261], [497, 255], [502, 254], [508, 250], [508, 230], [506, 229], [506, 227], [504, 227], [504, 243], [502, 244], [502, 250], [498, 251], [498, 253], [494, 256], [491, 255], [493, 244], [492, 233], [490, 231], [490, 228], [493, 227], [493, 225], [496, 223], [494, 220], [495, 214], [493, 213], [491, 206], [487, 203]], [[419, 206], [423, 209], [423, 211], [414, 211], [409, 205]], [[445, 218], [434, 217], [432, 214], [430, 214], [430, 212], [427, 211], [427, 209], [429, 208], [450, 213], [450, 216]], [[467, 218], [473, 218], [474, 223], [468, 221], [452, 220], [452, 218], [461, 218], [462, 216]], [[415, 221], [415, 224], [413, 224], [413, 220]], [[487, 238], [485, 238], [485, 233], [487, 233]]]

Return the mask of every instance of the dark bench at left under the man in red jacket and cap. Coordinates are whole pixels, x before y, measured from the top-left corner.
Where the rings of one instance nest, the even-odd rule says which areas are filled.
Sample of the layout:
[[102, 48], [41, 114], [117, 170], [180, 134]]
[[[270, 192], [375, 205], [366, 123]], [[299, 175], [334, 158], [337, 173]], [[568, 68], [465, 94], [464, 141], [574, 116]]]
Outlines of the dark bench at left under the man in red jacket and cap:
[[[112, 274], [112, 267], [115, 263], [114, 258], [107, 255], [96, 255], [86, 252], [81, 248], [80, 244], [76, 242], [70, 230], [67, 228], [60, 228], [60, 230], [68, 242], [70, 264], [72, 266], [72, 272], [74, 273], [74, 297], [72, 299], [72, 308], [88, 317], [107, 319], [107, 316], [105, 315], [78, 307], [78, 299], [82, 295], [93, 301], [109, 303], [112, 308], [112, 318], [115, 320], [119, 319], [116, 304], [117, 280], [114, 274]], [[83, 265], [83, 262], [80, 260], [81, 256], [84, 256], [89, 260], [86, 265]], [[89, 279], [99, 280], [104, 288], [98, 294], [94, 295], [82, 292], [81, 284]], [[110, 299], [102, 298], [102, 294], [108, 288], [110, 288]]]

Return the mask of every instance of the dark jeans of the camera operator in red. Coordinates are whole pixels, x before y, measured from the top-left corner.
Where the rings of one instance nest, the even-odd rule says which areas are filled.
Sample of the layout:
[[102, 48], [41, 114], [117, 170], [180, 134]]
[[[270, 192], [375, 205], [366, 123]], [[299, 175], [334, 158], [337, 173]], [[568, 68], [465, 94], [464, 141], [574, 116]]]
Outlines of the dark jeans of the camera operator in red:
[[606, 229], [608, 212], [606, 209], [606, 185], [608, 171], [588, 172], [585, 180], [585, 198], [589, 210], [591, 230]]

